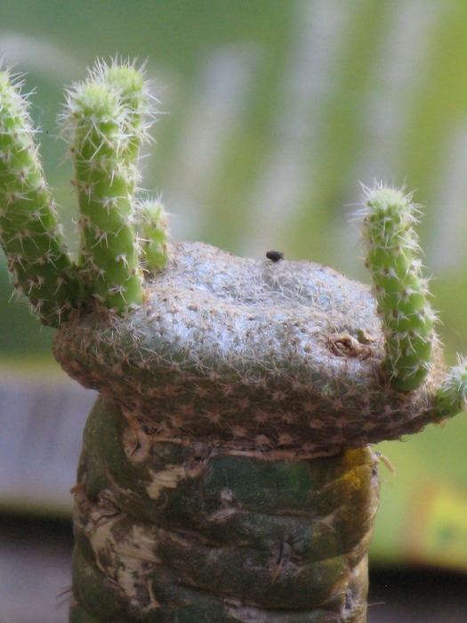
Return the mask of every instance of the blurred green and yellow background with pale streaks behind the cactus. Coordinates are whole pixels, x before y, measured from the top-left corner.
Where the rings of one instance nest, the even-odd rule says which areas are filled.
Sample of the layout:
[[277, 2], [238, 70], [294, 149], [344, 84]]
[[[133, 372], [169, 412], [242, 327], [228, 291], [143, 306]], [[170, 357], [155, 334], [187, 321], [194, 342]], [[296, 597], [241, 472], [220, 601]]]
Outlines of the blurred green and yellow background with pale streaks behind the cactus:
[[[71, 240], [62, 88], [117, 53], [148, 60], [160, 115], [144, 186], [162, 194], [174, 239], [260, 258], [278, 248], [367, 281], [350, 219], [359, 182], [405, 184], [426, 206], [420, 234], [447, 359], [467, 352], [467, 3], [2, 3], [0, 56], [36, 87], [31, 115]], [[9, 303], [4, 263], [0, 279], [3, 369], [53, 369], [52, 330]], [[466, 441], [461, 416], [381, 444], [397, 475], [382, 466], [374, 563], [467, 570]]]

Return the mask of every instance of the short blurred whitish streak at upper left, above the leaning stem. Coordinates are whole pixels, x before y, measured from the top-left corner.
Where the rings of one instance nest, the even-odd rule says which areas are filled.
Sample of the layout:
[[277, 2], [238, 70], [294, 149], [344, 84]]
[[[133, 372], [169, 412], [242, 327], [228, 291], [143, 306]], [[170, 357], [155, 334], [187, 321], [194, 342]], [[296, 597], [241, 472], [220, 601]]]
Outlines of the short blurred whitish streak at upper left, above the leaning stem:
[[83, 73], [82, 64], [59, 45], [17, 32], [0, 34], [0, 58], [17, 71], [35, 71], [54, 82]]

